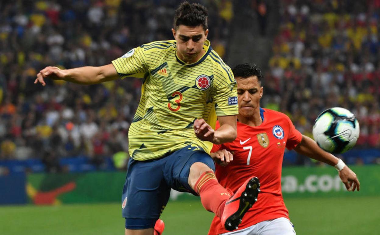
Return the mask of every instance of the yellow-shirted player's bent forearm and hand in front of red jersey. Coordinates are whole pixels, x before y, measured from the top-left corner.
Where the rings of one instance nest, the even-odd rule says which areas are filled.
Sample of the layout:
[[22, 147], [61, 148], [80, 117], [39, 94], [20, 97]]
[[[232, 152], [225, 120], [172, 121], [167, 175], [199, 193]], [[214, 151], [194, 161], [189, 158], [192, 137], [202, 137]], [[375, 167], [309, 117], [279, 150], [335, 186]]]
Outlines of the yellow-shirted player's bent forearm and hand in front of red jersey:
[[218, 117], [220, 128], [215, 131], [206, 121], [197, 119], [194, 122], [194, 133], [196, 137], [203, 141], [210, 141], [213, 144], [224, 144], [236, 139], [236, 115]]

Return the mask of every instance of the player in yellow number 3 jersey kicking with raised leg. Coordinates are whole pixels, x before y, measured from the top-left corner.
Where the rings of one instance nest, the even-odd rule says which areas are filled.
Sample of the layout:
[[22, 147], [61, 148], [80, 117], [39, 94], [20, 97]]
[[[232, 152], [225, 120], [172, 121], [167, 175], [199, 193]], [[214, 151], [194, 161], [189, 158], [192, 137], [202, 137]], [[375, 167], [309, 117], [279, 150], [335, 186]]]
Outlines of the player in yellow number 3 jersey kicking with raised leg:
[[[182, 3], [174, 16], [174, 40], [133, 48], [111, 64], [61, 70], [44, 78], [96, 84], [142, 78], [142, 95], [128, 133], [127, 178], [122, 195], [126, 235], [152, 235], [171, 188], [201, 197], [227, 230], [237, 229], [257, 200], [260, 184], [250, 177], [233, 195], [216, 180], [212, 144], [236, 138], [237, 92], [230, 67], [207, 40], [207, 10]], [[220, 128], [214, 131], [216, 118]], [[205, 231], [206, 232], [206, 231]]]

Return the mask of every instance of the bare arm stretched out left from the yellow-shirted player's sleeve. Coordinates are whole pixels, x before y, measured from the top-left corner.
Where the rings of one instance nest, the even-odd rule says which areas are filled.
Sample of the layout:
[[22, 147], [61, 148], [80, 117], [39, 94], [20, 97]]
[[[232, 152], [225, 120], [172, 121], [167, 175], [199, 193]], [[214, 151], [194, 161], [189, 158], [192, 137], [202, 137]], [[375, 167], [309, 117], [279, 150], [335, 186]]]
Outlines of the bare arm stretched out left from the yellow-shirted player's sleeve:
[[34, 83], [46, 85], [45, 78], [53, 80], [65, 80], [78, 84], [97, 84], [119, 78], [115, 67], [112, 64], [99, 67], [79, 67], [75, 69], [59, 69], [58, 67], [45, 67], [37, 74]]

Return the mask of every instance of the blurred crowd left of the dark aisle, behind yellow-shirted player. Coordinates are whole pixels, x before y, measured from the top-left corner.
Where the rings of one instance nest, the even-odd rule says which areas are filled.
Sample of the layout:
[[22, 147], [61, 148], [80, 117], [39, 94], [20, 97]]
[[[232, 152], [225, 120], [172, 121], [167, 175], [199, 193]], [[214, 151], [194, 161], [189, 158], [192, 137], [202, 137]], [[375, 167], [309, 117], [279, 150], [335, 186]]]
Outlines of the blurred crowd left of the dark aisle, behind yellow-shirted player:
[[[165, 4], [161, 4], [165, 2]], [[45, 66], [101, 66], [131, 48], [172, 39], [173, 15], [182, 1], [66, 0], [0, 3], [0, 160], [105, 156], [128, 149], [127, 132], [141, 80], [81, 86], [33, 84]], [[224, 54], [231, 1], [208, 7], [209, 38]]]

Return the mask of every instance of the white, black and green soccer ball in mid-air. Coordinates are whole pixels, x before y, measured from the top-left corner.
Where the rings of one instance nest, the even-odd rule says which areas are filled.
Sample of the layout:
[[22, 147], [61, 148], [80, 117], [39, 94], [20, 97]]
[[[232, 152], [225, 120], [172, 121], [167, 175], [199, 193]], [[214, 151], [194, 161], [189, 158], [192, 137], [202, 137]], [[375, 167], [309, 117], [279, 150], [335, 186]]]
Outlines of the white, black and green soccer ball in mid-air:
[[359, 137], [359, 122], [350, 111], [334, 107], [318, 115], [313, 137], [319, 147], [330, 153], [350, 150]]

